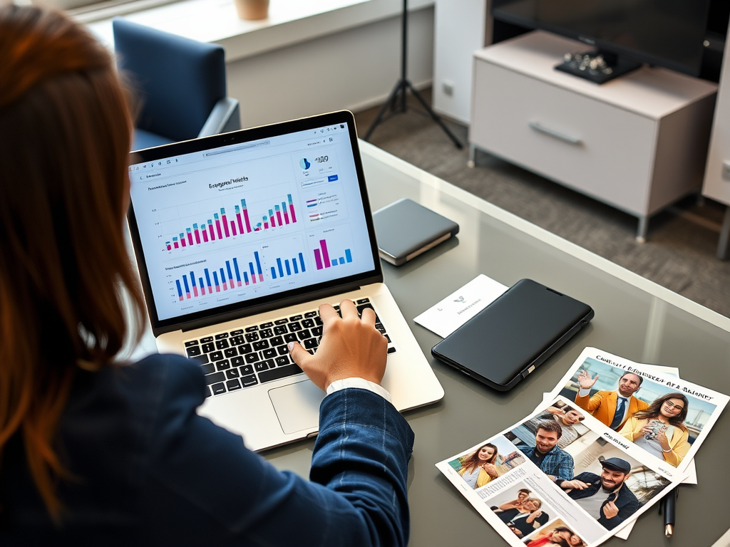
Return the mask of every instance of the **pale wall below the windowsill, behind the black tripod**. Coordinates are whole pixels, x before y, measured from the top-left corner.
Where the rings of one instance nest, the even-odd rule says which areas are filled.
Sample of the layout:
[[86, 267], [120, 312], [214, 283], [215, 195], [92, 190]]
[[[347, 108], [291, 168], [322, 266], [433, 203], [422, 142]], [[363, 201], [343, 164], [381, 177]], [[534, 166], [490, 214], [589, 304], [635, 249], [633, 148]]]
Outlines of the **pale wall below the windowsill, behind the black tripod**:
[[[228, 95], [240, 101], [243, 127], [374, 106], [400, 77], [400, 41], [401, 18], [395, 17], [231, 61]], [[429, 85], [433, 7], [410, 12], [408, 57], [410, 81]]]

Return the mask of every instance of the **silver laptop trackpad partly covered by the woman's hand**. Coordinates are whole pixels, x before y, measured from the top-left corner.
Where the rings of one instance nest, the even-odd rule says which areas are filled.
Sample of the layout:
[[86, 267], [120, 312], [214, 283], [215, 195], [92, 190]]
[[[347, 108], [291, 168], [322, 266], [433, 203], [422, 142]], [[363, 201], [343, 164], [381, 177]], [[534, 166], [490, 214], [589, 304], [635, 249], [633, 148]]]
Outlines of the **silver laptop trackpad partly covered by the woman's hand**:
[[325, 395], [311, 380], [269, 389], [269, 398], [285, 433], [315, 429], [319, 424], [319, 406]]

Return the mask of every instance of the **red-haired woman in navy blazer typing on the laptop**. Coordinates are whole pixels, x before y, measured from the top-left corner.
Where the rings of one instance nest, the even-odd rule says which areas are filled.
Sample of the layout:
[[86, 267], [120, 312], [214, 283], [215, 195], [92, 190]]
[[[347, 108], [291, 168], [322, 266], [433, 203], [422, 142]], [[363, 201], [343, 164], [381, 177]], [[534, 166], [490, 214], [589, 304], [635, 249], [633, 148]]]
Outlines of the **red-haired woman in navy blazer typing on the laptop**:
[[388, 343], [369, 309], [321, 306], [316, 354], [290, 346], [333, 390], [311, 481], [196, 414], [198, 365], [120, 359], [144, 319], [123, 235], [131, 131], [88, 31], [0, 7], [0, 545], [405, 545], [413, 435], [378, 394]]

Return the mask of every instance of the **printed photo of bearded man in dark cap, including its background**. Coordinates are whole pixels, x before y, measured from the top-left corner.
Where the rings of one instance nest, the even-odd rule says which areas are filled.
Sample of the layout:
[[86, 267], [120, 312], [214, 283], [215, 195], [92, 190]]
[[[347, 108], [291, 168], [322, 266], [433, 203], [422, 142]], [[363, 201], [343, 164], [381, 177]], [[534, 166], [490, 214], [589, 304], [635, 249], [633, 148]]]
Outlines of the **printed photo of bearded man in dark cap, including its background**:
[[631, 519], [670, 482], [592, 432], [568, 449], [573, 475], [556, 485], [606, 529]]

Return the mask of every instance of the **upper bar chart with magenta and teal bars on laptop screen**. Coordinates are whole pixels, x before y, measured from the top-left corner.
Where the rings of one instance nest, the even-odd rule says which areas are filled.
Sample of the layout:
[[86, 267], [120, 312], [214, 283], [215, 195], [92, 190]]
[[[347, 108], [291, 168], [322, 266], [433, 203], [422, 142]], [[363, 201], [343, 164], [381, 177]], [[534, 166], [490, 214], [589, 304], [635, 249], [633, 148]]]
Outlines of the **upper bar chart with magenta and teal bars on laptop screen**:
[[255, 197], [259, 199], [252, 201], [239, 194], [158, 209], [164, 251], [214, 247], [220, 244], [217, 242], [253, 238], [249, 234], [277, 233], [299, 225], [291, 193]]

